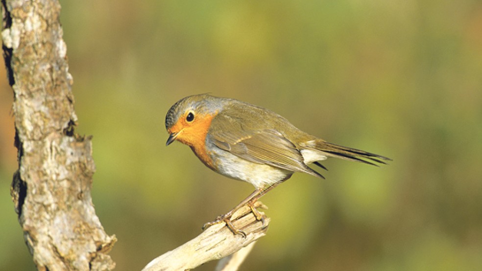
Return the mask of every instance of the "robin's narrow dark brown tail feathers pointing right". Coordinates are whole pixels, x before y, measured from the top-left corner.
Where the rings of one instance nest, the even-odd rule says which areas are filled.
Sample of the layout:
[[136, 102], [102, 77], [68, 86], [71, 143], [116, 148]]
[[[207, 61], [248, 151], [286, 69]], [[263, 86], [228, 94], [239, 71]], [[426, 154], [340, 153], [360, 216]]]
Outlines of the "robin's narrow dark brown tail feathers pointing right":
[[386, 161], [391, 161], [390, 158], [381, 155], [343, 147], [337, 144], [326, 142], [324, 140], [314, 140], [314, 142], [312, 141], [311, 143], [312, 146], [310, 146], [310, 149], [320, 152], [327, 157], [336, 157], [375, 166], [378, 166], [378, 164], [386, 164]]

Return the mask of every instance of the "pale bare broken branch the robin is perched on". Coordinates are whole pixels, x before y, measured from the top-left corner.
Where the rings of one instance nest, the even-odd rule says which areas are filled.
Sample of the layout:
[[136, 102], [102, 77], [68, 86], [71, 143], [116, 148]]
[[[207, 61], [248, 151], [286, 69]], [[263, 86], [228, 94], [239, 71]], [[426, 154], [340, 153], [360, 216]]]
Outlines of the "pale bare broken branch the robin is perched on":
[[[258, 202], [257, 207], [266, 208]], [[145, 266], [143, 271], [177, 271], [190, 270], [203, 263], [218, 260], [223, 257], [223, 262], [217, 267], [219, 271], [235, 271], [241, 265], [249, 250], [256, 240], [265, 236], [270, 219], [265, 218], [265, 224], [256, 220], [248, 206], [243, 206], [234, 213], [233, 225], [246, 233], [244, 238], [241, 235], [233, 234], [224, 223], [207, 228], [193, 240], [184, 245], [166, 252], [152, 260]], [[251, 245], [250, 245], [251, 244]], [[240, 250], [244, 248], [243, 250]], [[239, 251], [239, 254], [230, 256]]]

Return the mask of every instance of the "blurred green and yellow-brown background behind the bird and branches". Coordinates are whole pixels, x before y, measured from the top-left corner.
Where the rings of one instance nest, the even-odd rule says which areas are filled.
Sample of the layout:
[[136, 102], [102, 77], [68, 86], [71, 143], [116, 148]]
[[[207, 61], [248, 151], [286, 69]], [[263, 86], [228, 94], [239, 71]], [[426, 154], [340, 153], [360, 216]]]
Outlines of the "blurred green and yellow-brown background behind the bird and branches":
[[[329, 159], [263, 199], [272, 221], [241, 270], [480, 270], [480, 0], [61, 1], [77, 132], [120, 271], [140, 270], [252, 192], [207, 169], [164, 117], [201, 92], [393, 158]], [[2, 68], [3, 69], [3, 68]], [[9, 186], [13, 94], [0, 91], [0, 270], [34, 270]], [[198, 270], [213, 270], [215, 262]]]

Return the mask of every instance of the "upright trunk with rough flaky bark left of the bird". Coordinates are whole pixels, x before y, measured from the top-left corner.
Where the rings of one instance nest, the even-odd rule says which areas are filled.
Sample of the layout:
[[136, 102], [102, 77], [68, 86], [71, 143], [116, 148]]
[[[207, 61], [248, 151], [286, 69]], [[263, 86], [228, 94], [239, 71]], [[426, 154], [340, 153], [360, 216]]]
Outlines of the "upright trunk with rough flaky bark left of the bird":
[[92, 142], [77, 116], [57, 0], [1, 0], [2, 49], [14, 91], [19, 169], [12, 198], [38, 270], [111, 270], [91, 198]]

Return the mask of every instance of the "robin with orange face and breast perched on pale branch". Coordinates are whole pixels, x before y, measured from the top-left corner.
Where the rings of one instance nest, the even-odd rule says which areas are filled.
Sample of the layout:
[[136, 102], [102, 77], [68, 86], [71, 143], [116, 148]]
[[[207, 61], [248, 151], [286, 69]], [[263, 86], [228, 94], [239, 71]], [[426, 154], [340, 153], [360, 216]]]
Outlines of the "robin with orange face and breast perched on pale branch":
[[307, 134], [286, 118], [265, 108], [235, 99], [209, 94], [185, 97], [166, 115], [169, 138], [191, 147], [207, 167], [226, 177], [247, 181], [256, 190], [228, 213], [217, 217], [212, 226], [225, 222], [234, 233], [245, 236], [231, 223], [233, 213], [244, 205], [260, 221], [254, 203], [269, 190], [288, 180], [295, 172], [324, 177], [308, 167], [328, 157], [377, 165], [390, 160], [380, 155], [343, 147]]

